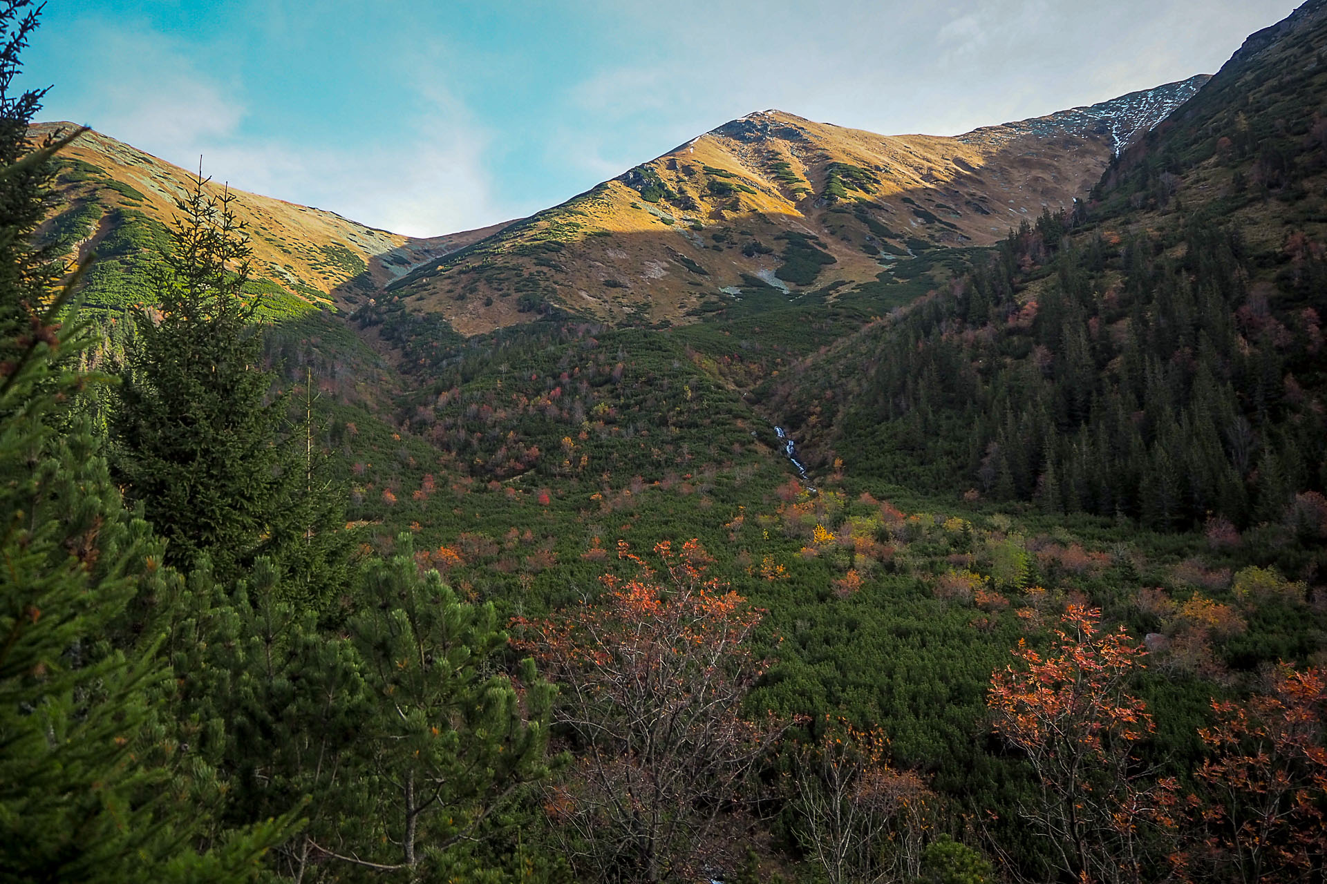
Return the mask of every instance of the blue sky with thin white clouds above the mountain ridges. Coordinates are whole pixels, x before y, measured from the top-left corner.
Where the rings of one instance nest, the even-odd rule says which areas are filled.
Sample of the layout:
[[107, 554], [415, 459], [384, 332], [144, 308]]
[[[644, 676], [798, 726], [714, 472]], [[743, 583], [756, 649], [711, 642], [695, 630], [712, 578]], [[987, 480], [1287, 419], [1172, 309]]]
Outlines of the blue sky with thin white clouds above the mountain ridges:
[[413, 236], [755, 110], [953, 135], [1216, 70], [1292, 0], [49, 0], [41, 119]]

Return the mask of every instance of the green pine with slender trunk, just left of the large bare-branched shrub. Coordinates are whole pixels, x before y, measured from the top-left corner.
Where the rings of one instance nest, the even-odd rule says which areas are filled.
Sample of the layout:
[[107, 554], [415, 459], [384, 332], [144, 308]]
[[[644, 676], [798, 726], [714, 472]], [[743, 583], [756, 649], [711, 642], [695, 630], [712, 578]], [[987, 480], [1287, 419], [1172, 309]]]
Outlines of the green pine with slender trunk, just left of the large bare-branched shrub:
[[[437, 571], [419, 574], [411, 538], [372, 562], [350, 623], [376, 714], [361, 746], [369, 785], [356, 831], [324, 856], [377, 869], [455, 861], [443, 854], [483, 831], [522, 787], [548, 773], [553, 688], [527, 660], [520, 692], [491, 673], [506, 644], [491, 604], [467, 604]], [[418, 872], [417, 872], [418, 873]]]

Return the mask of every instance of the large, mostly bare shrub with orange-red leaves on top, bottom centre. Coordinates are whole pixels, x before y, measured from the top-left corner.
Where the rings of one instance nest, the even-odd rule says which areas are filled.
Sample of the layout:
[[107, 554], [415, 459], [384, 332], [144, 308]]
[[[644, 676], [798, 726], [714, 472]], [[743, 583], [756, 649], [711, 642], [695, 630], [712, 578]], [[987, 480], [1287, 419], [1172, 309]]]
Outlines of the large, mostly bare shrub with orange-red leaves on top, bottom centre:
[[654, 554], [658, 569], [620, 542], [633, 577], [602, 577], [594, 604], [515, 623], [559, 684], [576, 757], [547, 810], [573, 864], [601, 880], [693, 880], [731, 863], [715, 830], [750, 803], [752, 765], [782, 732], [740, 713], [764, 669], [750, 647], [760, 611], [706, 575], [697, 541]]

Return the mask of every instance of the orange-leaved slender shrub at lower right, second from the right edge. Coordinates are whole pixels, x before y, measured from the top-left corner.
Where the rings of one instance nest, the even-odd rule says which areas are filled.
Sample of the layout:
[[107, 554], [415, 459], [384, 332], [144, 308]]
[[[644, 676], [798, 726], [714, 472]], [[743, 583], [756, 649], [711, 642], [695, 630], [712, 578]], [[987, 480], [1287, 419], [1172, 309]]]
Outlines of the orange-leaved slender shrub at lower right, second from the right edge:
[[1156, 786], [1133, 757], [1152, 717], [1128, 685], [1147, 651], [1123, 627], [1101, 632], [1099, 620], [1099, 610], [1071, 604], [1044, 656], [1019, 640], [1019, 665], [994, 673], [986, 705], [1036, 774], [1039, 801], [1022, 811], [1047, 836], [1058, 869], [1136, 883]]

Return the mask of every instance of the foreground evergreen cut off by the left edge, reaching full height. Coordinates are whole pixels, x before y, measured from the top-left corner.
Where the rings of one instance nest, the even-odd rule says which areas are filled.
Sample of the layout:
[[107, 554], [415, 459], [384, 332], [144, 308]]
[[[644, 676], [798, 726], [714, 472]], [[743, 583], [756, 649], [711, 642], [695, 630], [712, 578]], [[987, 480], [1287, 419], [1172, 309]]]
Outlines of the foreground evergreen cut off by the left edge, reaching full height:
[[[151, 644], [114, 647], [138, 594], [171, 579], [146, 522], [121, 506], [86, 423], [61, 436], [88, 343], [28, 243], [60, 143], [32, 150], [41, 93], [9, 95], [37, 24], [0, 4], [0, 881], [239, 881], [283, 826], [199, 852], [196, 812], [162, 753]], [[66, 139], [68, 140], [68, 139]]]

